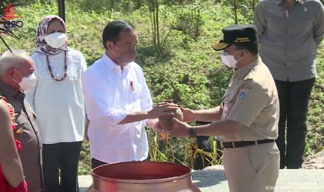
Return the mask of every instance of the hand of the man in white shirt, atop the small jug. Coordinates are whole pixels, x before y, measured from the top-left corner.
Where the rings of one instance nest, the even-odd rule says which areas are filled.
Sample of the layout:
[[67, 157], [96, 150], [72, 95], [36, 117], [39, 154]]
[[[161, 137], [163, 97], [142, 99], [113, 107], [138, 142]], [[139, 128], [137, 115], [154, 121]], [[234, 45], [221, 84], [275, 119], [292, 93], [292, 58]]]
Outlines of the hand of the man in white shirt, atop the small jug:
[[176, 111], [178, 109], [177, 104], [161, 102], [158, 103], [153, 109], [148, 111], [148, 119], [160, 118], [160, 116], [174, 116], [174, 113], [170, 111]]

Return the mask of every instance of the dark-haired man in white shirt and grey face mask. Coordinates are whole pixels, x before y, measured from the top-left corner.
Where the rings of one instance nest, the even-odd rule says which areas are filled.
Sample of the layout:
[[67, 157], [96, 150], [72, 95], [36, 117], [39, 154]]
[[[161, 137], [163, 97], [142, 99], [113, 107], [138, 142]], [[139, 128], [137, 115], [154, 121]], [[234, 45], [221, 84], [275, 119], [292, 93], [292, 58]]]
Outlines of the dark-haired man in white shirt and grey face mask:
[[176, 104], [159, 103], [152, 109], [141, 67], [134, 63], [138, 35], [132, 24], [110, 22], [102, 33], [106, 49], [82, 79], [90, 120], [92, 168], [105, 163], [143, 161], [148, 157], [145, 126], [158, 127], [156, 118], [174, 115]]

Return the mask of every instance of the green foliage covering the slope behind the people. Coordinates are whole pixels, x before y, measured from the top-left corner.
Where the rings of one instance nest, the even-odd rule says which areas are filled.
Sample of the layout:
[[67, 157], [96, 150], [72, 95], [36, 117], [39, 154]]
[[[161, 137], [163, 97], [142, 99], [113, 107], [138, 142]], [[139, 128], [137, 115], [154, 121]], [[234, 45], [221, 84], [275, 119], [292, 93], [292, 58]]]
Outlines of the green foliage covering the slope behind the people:
[[[17, 6], [17, 13], [22, 15], [24, 22], [24, 27], [15, 31], [20, 40], [4, 37], [13, 49], [26, 49], [29, 53], [35, 46], [40, 19], [45, 15], [58, 13], [56, 3], [52, 1], [33, 2], [35, 3]], [[173, 98], [180, 106], [206, 109], [222, 101], [232, 72], [220, 64], [219, 53], [213, 51], [211, 45], [222, 38], [222, 27], [235, 22], [233, 7], [229, 1], [219, 3], [199, 1], [199, 5], [188, 4], [192, 1], [160, 1], [159, 19], [162, 21], [160, 31], [163, 39], [160, 51], [154, 51], [153, 46], [151, 1], [116, 1], [113, 8], [109, 7], [111, 0], [65, 2], [68, 45], [81, 51], [88, 65], [102, 56], [104, 49], [101, 35], [105, 25], [113, 19], [125, 19], [137, 27], [140, 41], [136, 61], [143, 67], [155, 103]], [[125, 8], [128, 2], [134, 5], [131, 12]], [[243, 5], [245, 1], [238, 2]], [[251, 22], [250, 6], [240, 8], [238, 12], [240, 23]], [[197, 15], [192, 14], [193, 10], [199, 10], [198, 35], [195, 31], [197, 25], [194, 22]], [[5, 50], [5, 47], [0, 47], [0, 51]], [[323, 46], [318, 50], [318, 78], [309, 103], [307, 155], [323, 150], [324, 141]], [[154, 161], [172, 161], [190, 165], [194, 157], [192, 154], [197, 152], [192, 152], [194, 141], [189, 138], [162, 139], [151, 129], [148, 129], [148, 141], [149, 158]], [[215, 152], [206, 155], [215, 157]], [[79, 165], [80, 174], [90, 173], [88, 142], [82, 145]]]

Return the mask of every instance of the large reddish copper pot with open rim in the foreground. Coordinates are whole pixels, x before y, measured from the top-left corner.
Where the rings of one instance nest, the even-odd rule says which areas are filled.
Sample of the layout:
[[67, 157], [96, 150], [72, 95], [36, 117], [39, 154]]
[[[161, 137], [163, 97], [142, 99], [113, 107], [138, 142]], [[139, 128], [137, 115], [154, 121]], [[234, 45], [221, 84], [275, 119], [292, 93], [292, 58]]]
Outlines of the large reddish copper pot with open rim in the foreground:
[[191, 180], [191, 169], [176, 163], [132, 161], [99, 166], [92, 171], [89, 191], [200, 191]]

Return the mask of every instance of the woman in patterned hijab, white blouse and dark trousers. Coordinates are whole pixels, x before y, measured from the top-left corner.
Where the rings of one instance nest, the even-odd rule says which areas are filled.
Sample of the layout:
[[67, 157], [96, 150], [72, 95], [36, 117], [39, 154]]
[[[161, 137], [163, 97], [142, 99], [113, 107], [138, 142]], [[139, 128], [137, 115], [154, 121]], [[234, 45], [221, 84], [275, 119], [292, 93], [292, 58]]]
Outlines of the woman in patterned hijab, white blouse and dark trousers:
[[85, 127], [81, 79], [86, 61], [67, 46], [61, 17], [49, 15], [40, 22], [31, 58], [38, 80], [29, 98], [43, 138], [45, 191], [79, 191], [77, 170]]

